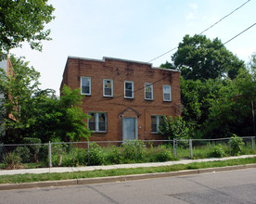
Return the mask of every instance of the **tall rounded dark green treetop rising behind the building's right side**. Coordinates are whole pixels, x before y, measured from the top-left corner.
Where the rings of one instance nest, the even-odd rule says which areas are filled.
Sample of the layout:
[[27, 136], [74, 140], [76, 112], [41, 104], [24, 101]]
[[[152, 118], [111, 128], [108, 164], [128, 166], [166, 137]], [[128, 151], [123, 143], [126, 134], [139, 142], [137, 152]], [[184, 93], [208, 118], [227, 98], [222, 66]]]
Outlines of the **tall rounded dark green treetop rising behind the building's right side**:
[[172, 59], [185, 80], [234, 79], [238, 70], [245, 70], [244, 62], [228, 51], [221, 40], [211, 41], [205, 35], [186, 35]]

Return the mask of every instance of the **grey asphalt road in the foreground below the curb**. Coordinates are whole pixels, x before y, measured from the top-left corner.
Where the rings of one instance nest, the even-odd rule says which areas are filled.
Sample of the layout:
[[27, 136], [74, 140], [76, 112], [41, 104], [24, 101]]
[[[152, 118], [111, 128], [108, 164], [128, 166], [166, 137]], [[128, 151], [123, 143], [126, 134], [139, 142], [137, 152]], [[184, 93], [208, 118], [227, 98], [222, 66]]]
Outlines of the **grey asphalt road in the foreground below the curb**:
[[0, 203], [256, 203], [256, 169], [0, 191]]

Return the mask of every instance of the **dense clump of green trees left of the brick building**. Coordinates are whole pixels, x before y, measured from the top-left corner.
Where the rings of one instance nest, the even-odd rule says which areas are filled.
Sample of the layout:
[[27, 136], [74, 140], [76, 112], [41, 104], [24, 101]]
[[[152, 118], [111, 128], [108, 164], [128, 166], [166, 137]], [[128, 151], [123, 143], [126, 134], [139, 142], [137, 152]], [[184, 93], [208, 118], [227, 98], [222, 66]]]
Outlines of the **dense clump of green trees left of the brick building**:
[[21, 143], [24, 138], [40, 138], [42, 142], [52, 139], [77, 141], [88, 139], [90, 131], [80, 105], [80, 90], [64, 86], [62, 96], [55, 96], [51, 89], [41, 90], [38, 85], [40, 73], [28, 67], [22, 58], [10, 57], [12, 76], [1, 74], [0, 87], [5, 99], [5, 143]]

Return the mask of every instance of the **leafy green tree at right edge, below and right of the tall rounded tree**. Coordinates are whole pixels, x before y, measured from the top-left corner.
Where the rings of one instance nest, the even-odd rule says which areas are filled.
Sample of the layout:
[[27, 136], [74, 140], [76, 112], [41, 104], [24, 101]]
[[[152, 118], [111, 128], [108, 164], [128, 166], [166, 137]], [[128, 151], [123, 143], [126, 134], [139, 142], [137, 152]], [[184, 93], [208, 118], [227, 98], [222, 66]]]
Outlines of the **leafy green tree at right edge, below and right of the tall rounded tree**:
[[209, 118], [203, 126], [208, 137], [253, 135], [251, 102], [256, 102], [256, 67], [253, 61], [255, 54], [249, 69], [240, 70], [236, 79], [225, 82], [219, 97], [211, 101]]

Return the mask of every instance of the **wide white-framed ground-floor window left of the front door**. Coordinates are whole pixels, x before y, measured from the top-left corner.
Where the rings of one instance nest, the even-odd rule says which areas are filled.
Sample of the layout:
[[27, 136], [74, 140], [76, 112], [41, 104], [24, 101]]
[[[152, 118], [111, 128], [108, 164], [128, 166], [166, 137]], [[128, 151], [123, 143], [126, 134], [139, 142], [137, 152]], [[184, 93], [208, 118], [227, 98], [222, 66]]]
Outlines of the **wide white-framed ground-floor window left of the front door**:
[[107, 113], [104, 112], [89, 112], [91, 116], [88, 120], [88, 127], [91, 131], [97, 133], [107, 132]]

